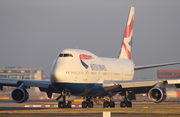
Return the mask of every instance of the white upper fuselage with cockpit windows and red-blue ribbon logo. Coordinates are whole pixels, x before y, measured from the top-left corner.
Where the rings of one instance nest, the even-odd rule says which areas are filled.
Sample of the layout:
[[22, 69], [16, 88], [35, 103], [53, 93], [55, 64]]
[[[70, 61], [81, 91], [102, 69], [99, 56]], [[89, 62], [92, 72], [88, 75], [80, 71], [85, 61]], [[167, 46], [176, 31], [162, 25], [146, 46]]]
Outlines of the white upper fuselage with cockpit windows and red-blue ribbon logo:
[[105, 80], [127, 81], [133, 79], [134, 66], [129, 59], [100, 58], [85, 50], [66, 49], [54, 61], [51, 82], [103, 84]]

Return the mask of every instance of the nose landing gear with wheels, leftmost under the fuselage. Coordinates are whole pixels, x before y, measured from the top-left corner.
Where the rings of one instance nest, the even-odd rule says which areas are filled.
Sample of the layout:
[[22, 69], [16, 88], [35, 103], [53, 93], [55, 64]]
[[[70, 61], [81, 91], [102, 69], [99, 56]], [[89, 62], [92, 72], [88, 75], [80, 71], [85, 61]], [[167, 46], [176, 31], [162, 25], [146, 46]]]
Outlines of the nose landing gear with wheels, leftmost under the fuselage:
[[60, 99], [63, 96], [63, 101], [59, 101], [58, 107], [59, 108], [71, 108], [71, 101], [67, 101], [69, 98], [69, 92], [62, 91], [61, 95], [56, 99]]

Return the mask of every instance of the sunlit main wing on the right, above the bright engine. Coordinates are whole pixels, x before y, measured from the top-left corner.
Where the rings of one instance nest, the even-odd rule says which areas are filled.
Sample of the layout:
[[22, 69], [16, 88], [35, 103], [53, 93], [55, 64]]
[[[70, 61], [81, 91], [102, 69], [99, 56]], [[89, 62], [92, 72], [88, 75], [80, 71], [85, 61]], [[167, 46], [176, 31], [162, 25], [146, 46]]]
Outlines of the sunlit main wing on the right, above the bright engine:
[[147, 93], [152, 87], [156, 86], [159, 83], [163, 84], [164, 82], [167, 82], [168, 84], [175, 84], [177, 88], [180, 88], [180, 79], [162, 79], [162, 80], [153, 79], [153, 80], [131, 80], [131, 81], [105, 80], [103, 82], [103, 89], [105, 91], [115, 91], [115, 92], [132, 90], [135, 94], [140, 94], [140, 93]]

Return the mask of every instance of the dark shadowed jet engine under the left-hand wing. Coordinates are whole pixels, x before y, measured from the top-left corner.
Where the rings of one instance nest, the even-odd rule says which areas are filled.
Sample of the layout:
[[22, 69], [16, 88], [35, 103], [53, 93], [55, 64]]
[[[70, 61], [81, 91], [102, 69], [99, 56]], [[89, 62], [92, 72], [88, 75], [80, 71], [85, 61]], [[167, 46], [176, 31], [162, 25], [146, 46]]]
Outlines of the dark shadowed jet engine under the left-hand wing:
[[18, 87], [12, 91], [11, 96], [13, 100], [16, 101], [17, 103], [23, 103], [28, 100], [29, 93], [26, 91], [26, 89]]

